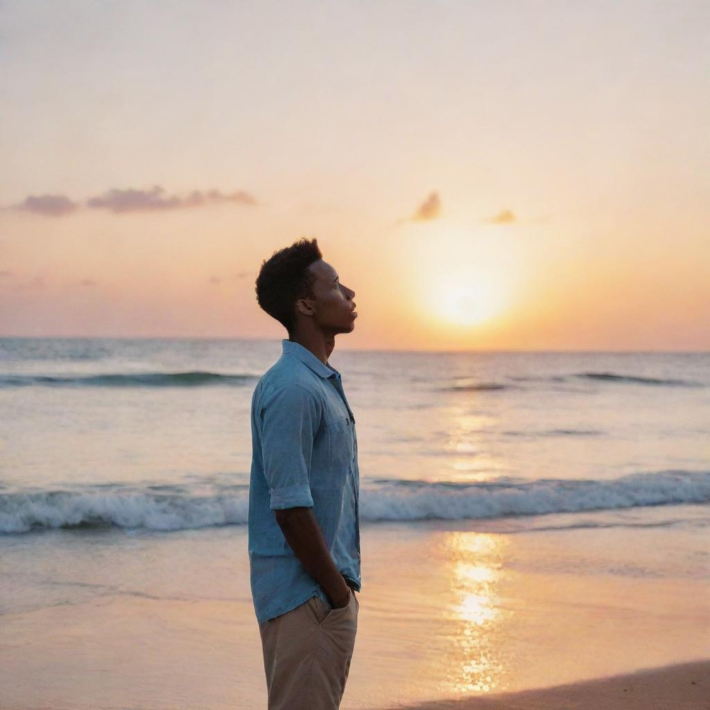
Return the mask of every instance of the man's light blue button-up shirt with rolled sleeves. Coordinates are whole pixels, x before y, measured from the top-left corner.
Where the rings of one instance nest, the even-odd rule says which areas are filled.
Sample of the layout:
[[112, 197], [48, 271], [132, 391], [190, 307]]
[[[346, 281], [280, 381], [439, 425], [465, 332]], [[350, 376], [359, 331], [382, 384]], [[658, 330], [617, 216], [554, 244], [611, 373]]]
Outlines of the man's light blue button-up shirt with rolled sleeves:
[[274, 510], [306, 506], [320, 525], [341, 574], [360, 591], [360, 528], [355, 417], [340, 373], [288, 339], [251, 398], [249, 564], [258, 623], [312, 596], [322, 586], [294, 555]]

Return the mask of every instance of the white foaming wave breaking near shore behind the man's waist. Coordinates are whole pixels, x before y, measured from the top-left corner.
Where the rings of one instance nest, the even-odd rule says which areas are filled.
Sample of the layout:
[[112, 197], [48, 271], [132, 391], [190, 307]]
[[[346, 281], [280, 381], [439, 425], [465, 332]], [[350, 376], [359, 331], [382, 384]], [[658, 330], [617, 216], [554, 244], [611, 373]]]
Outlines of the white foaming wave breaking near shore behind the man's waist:
[[[166, 493], [156, 491], [170, 491], [170, 486], [103, 484], [84, 491], [15, 490], [0, 494], [0, 532], [112, 526], [168, 531], [244, 525], [248, 486], [216, 488], [219, 492], [214, 495], [190, 493], [195, 490], [191, 484]], [[361, 484], [359, 508], [361, 522], [369, 523], [479, 520], [708, 501], [710, 471], [668, 470], [610, 481], [525, 481], [504, 476], [469, 484], [378, 479]]]

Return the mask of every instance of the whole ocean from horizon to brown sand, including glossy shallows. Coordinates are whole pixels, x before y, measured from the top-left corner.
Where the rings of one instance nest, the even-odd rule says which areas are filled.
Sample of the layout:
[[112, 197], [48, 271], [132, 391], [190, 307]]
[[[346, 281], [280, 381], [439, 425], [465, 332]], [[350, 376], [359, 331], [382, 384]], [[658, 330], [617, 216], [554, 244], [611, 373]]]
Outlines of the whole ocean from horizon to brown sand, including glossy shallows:
[[[344, 708], [710, 657], [710, 354], [344, 340], [363, 552]], [[249, 405], [280, 353], [0, 339], [1, 707], [263, 704]]]

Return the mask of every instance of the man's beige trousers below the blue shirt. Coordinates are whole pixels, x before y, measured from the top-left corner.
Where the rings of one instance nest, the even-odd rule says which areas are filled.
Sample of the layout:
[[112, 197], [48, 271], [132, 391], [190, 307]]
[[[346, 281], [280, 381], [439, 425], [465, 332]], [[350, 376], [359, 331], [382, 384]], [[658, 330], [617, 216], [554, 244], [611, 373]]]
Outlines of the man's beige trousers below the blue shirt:
[[268, 710], [337, 710], [355, 646], [360, 602], [331, 608], [312, 596], [259, 624]]

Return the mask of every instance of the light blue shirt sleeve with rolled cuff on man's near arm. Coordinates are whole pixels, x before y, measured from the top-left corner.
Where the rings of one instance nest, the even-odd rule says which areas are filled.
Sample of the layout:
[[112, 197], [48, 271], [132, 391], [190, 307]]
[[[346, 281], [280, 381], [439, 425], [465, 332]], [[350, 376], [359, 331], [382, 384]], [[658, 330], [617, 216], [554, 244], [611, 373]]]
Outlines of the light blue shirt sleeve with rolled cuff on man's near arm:
[[319, 425], [317, 395], [307, 388], [292, 383], [265, 398], [261, 453], [271, 510], [313, 507], [310, 465]]

